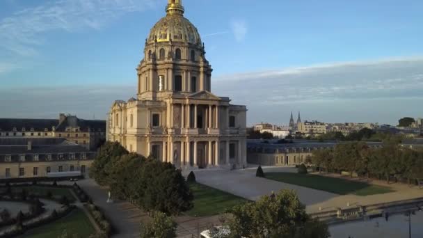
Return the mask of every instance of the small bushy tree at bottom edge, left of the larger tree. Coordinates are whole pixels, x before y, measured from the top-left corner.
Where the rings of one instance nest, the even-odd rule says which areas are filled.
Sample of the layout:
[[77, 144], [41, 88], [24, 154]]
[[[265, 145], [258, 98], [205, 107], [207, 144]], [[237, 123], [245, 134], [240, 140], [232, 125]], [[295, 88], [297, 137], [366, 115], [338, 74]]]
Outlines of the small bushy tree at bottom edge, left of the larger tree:
[[145, 225], [141, 224], [141, 238], [161, 237], [173, 238], [176, 237], [177, 223], [162, 212], [155, 212], [153, 220]]

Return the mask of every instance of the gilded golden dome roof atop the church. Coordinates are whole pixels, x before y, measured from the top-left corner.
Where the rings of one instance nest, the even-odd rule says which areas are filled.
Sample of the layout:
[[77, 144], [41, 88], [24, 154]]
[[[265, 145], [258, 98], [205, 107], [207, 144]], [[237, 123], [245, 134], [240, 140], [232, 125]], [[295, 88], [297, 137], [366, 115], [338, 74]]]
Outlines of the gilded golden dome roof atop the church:
[[201, 46], [197, 28], [184, 17], [182, 0], [168, 0], [166, 17], [157, 22], [148, 35], [148, 42], [184, 42]]

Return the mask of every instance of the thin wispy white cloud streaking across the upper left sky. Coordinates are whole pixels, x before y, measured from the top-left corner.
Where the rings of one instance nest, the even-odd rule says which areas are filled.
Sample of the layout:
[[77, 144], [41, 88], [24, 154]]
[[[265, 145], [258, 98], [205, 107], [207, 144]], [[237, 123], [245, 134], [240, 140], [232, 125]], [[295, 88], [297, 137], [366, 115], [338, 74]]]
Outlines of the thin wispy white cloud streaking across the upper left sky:
[[59, 0], [0, 19], [0, 47], [19, 56], [36, 54], [49, 31], [100, 29], [107, 22], [154, 6], [154, 0]]

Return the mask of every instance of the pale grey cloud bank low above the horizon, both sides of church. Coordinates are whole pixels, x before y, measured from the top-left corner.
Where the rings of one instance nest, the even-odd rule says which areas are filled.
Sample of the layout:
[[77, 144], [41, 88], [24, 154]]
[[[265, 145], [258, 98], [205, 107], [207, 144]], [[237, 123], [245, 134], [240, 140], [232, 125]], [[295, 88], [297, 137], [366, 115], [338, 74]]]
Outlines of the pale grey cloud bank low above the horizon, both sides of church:
[[[0, 87], [0, 117], [56, 118], [67, 112], [104, 118], [114, 100], [135, 95], [135, 84]], [[423, 57], [327, 63], [212, 79], [212, 93], [247, 105], [249, 123], [284, 124], [291, 111], [301, 111], [309, 120], [394, 124], [402, 116], [423, 116], [422, 91]]]

